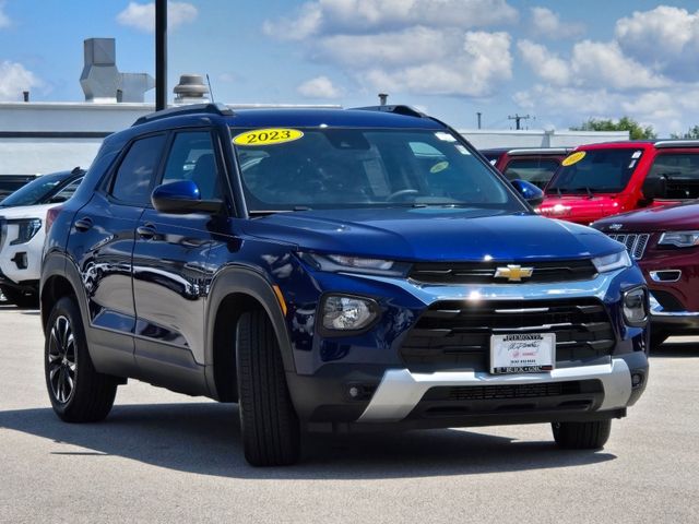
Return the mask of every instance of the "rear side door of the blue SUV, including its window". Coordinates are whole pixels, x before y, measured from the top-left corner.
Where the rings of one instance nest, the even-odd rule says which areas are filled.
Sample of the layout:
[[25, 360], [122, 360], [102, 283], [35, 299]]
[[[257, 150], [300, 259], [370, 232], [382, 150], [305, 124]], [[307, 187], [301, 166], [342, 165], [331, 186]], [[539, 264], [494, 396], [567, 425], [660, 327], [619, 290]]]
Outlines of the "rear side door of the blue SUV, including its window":
[[91, 355], [103, 372], [134, 374], [131, 257], [165, 140], [163, 133], [134, 141], [71, 228], [68, 251], [75, 257], [87, 298]]

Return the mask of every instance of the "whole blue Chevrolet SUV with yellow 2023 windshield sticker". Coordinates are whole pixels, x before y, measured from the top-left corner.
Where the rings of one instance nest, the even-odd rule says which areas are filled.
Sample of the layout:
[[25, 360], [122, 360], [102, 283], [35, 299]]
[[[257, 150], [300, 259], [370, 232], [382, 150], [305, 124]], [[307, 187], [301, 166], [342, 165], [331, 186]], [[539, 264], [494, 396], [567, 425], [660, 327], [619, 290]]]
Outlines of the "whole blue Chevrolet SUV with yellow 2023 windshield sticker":
[[645, 388], [648, 290], [528, 198], [405, 106], [143, 117], [47, 217], [52, 407], [100, 420], [129, 378], [237, 402], [253, 465], [308, 430], [552, 422], [599, 449]]

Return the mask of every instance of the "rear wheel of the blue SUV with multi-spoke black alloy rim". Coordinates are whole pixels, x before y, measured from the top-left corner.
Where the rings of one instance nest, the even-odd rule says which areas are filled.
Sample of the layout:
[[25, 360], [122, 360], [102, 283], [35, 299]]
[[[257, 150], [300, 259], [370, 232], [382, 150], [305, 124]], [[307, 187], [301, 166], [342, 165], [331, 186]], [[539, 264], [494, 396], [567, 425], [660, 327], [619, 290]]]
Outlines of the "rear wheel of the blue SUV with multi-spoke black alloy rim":
[[51, 406], [62, 420], [96, 422], [109, 415], [117, 379], [95, 371], [80, 309], [71, 297], [56, 302], [48, 318], [44, 370]]

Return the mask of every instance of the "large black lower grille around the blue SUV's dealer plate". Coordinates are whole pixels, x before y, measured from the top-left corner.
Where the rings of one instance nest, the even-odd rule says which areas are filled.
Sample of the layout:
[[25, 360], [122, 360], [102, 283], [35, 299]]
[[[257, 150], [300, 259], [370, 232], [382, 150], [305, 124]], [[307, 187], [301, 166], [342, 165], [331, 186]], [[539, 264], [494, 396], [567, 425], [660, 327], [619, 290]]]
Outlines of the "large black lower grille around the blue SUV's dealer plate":
[[556, 361], [609, 355], [615, 335], [595, 298], [434, 303], [407, 333], [401, 357], [412, 369], [489, 369], [490, 336], [556, 333]]

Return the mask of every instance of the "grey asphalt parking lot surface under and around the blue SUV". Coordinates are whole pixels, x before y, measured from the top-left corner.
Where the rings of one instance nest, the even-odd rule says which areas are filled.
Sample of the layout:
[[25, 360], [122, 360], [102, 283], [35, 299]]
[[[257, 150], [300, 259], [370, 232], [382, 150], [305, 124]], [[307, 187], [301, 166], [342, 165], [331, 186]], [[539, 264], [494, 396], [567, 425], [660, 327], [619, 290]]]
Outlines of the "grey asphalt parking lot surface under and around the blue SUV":
[[315, 436], [256, 469], [235, 405], [137, 381], [105, 422], [50, 409], [38, 311], [0, 305], [0, 522], [699, 522], [699, 338], [652, 357], [603, 451], [547, 425]]

